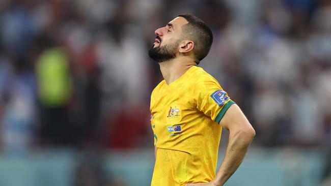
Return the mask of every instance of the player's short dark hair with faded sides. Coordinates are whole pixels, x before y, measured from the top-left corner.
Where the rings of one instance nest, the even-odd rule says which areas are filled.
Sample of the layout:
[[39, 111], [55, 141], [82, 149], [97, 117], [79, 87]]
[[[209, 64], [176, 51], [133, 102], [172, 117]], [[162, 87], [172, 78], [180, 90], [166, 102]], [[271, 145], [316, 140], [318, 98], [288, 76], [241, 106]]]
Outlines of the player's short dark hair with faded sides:
[[211, 29], [201, 19], [194, 15], [183, 14], [178, 17], [183, 17], [187, 20], [187, 24], [183, 25], [183, 38], [194, 42], [193, 52], [197, 58], [197, 65], [205, 58], [210, 50], [213, 42], [213, 34]]

